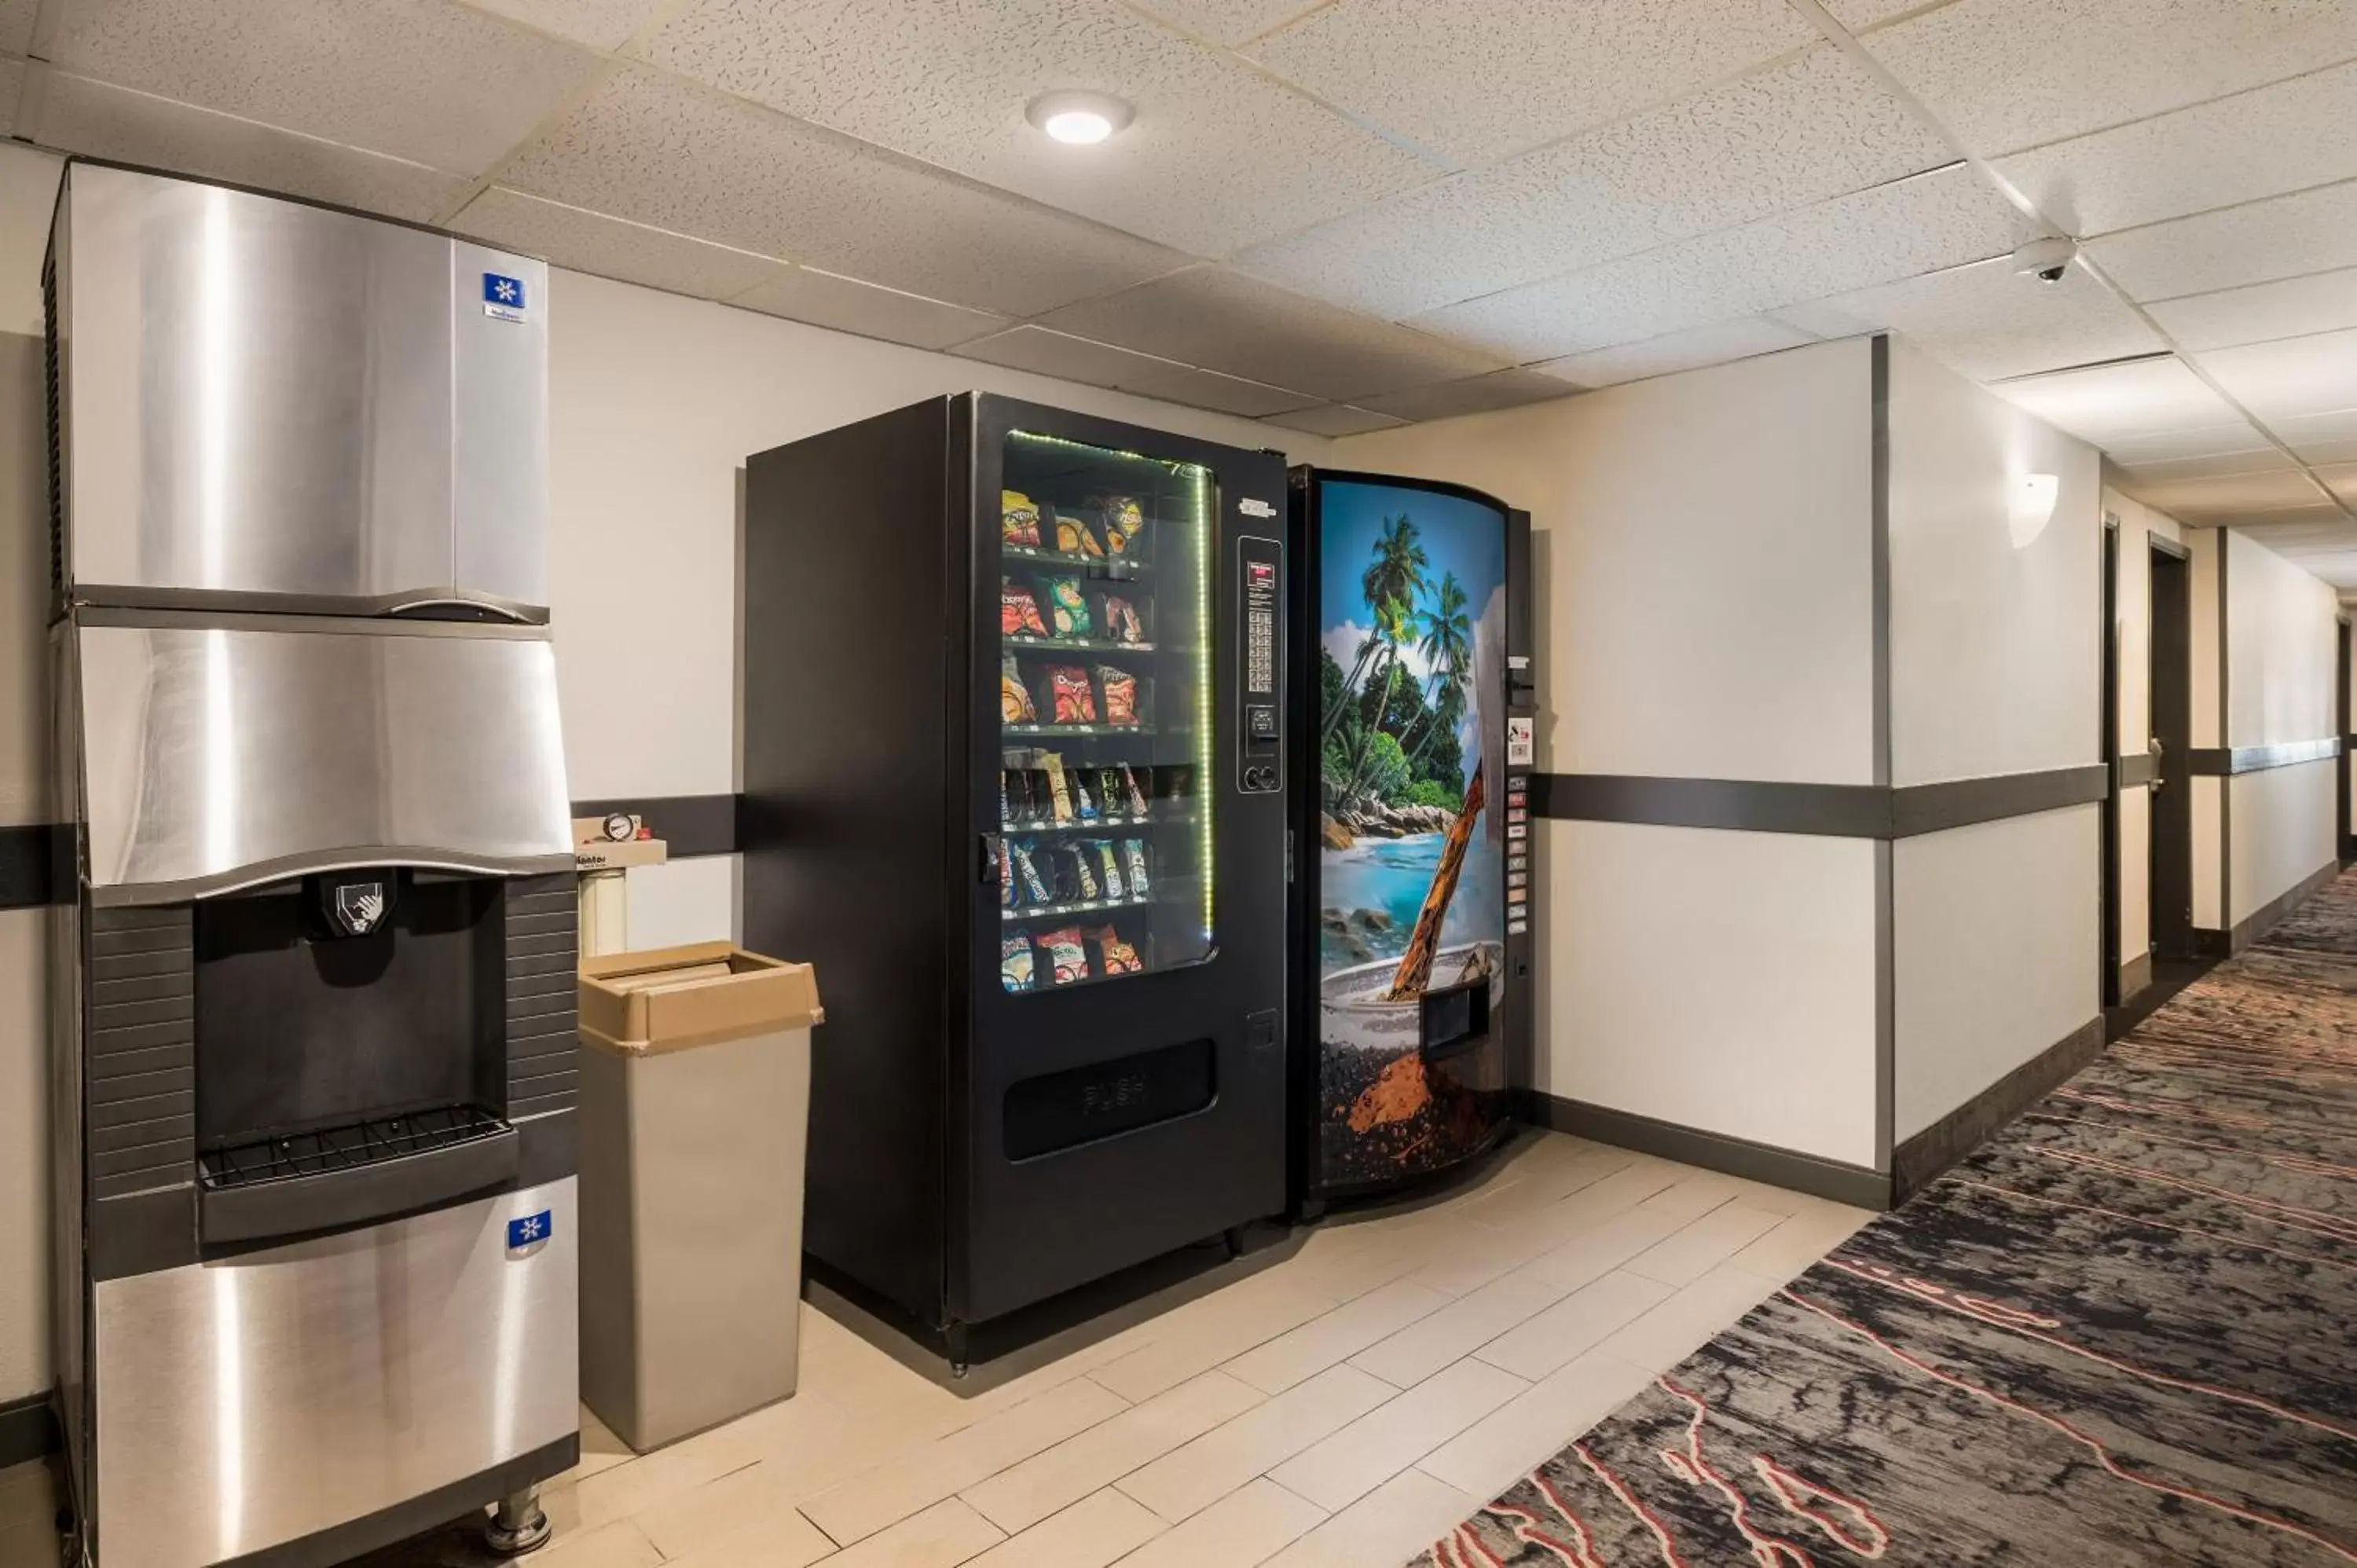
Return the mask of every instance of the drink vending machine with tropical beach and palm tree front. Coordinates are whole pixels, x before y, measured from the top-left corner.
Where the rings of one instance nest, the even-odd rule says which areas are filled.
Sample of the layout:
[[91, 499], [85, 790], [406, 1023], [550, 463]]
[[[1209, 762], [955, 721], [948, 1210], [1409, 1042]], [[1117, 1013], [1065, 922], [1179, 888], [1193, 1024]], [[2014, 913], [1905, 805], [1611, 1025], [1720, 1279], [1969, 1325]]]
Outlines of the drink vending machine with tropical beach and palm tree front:
[[1292, 472], [1294, 1212], [1431, 1177], [1530, 1085], [1530, 514]]

